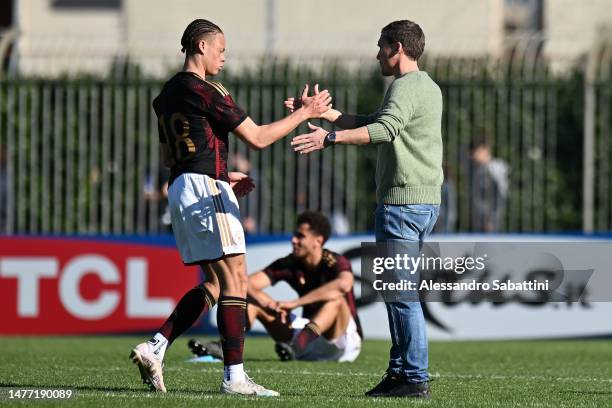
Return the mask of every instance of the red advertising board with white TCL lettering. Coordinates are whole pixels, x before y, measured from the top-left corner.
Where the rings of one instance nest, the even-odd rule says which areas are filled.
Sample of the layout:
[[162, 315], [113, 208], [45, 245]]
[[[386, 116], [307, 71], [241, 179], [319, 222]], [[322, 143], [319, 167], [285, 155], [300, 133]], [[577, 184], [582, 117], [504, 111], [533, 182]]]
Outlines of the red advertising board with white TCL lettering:
[[154, 329], [198, 280], [170, 246], [0, 238], [0, 334]]

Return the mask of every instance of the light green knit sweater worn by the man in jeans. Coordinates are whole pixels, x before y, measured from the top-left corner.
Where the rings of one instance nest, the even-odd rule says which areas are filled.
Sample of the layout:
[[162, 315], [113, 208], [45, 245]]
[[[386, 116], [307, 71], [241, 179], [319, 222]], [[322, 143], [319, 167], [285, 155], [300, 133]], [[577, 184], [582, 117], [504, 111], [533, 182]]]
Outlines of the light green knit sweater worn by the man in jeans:
[[380, 110], [358, 122], [378, 144], [376, 201], [440, 204], [442, 92], [429, 75], [412, 71], [397, 78]]

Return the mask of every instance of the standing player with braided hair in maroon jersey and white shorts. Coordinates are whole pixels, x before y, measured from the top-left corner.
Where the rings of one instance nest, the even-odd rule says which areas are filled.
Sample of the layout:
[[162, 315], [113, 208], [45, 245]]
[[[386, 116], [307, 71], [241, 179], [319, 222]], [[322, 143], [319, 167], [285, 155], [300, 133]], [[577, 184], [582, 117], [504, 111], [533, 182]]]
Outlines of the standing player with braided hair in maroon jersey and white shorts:
[[320, 117], [331, 107], [329, 93], [308, 96], [289, 116], [259, 126], [233, 101], [218, 82], [208, 80], [225, 63], [225, 37], [214, 23], [197, 19], [181, 38], [182, 72], [165, 83], [153, 101], [158, 117], [161, 155], [170, 167], [168, 204], [172, 229], [182, 260], [199, 265], [206, 282], [189, 291], [159, 332], [137, 345], [130, 355], [141, 377], [165, 392], [164, 353], [178, 335], [216, 303], [225, 355], [222, 393], [277, 396], [244, 372], [243, 347], [247, 274], [244, 231], [236, 194], [252, 188], [251, 179], [227, 170], [228, 133], [262, 149], [286, 136], [302, 121]]

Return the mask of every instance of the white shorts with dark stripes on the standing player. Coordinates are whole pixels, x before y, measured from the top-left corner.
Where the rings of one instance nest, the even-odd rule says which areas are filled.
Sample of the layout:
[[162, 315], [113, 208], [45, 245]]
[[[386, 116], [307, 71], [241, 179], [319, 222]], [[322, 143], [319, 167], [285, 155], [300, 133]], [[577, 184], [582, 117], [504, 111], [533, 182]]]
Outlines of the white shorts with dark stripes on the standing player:
[[245, 253], [238, 200], [228, 183], [203, 174], [181, 174], [168, 189], [168, 207], [185, 264]]

